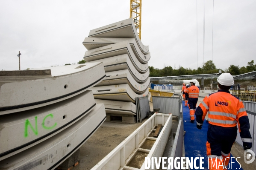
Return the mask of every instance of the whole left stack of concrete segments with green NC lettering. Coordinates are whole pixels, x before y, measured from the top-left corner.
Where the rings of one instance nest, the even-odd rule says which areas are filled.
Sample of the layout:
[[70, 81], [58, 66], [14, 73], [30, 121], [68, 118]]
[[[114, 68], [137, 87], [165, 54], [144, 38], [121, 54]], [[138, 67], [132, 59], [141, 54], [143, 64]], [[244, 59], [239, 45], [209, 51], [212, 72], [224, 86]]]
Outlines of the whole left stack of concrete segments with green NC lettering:
[[[106, 119], [103, 63], [0, 72], [0, 169], [55, 169]], [[85, 131], [86, 129], [86, 131]]]

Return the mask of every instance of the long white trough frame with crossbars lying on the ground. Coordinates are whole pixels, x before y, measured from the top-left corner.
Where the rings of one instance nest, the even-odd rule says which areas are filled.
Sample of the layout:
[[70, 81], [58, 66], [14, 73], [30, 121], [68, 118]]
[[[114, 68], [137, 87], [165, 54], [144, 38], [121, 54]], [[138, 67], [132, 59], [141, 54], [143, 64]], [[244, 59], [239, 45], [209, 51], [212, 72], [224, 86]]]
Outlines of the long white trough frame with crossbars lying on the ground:
[[[164, 153], [172, 125], [173, 116], [157, 113], [138, 127], [111, 153], [96, 164], [92, 170], [139, 170], [144, 169], [145, 157], [161, 157]], [[162, 125], [160, 131], [158, 125]], [[159, 130], [159, 132], [158, 132]], [[159, 134], [156, 136], [156, 133]]]

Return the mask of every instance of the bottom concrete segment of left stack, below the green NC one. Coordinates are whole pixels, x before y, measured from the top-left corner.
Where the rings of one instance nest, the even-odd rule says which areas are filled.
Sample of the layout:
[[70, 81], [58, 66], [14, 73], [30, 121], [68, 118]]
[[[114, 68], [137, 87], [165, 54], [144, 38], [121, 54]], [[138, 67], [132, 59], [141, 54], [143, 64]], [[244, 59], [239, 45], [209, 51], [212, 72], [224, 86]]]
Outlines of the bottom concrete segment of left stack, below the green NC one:
[[1, 170], [54, 170], [71, 156], [105, 121], [104, 104], [97, 104], [77, 123], [21, 153], [0, 161]]

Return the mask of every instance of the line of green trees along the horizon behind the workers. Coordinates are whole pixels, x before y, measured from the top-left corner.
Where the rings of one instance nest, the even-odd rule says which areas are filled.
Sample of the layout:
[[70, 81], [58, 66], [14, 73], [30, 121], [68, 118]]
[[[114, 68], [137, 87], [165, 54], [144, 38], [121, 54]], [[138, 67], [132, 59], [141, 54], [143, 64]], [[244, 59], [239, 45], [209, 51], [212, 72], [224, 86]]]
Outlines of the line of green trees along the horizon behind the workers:
[[230, 65], [229, 68], [222, 70], [217, 69], [215, 64], [210, 60], [203, 64], [202, 67], [198, 67], [197, 69], [184, 68], [179, 66], [179, 68], [174, 69], [171, 66], [164, 66], [163, 69], [158, 69], [153, 66], [149, 66], [150, 77], [163, 77], [163, 76], [179, 76], [179, 75], [197, 75], [197, 74], [212, 74], [221, 72], [229, 72], [231, 75], [240, 75], [247, 72], [256, 71], [256, 64], [254, 61], [250, 61], [247, 63], [247, 66], [235, 66]]

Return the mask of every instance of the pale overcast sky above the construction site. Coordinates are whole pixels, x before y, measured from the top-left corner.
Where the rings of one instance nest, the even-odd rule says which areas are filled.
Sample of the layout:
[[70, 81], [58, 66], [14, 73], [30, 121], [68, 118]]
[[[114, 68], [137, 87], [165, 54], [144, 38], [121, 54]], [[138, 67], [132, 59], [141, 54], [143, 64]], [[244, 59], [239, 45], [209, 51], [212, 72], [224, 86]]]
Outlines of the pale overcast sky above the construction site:
[[[256, 0], [214, 0], [214, 12], [206, 0], [205, 7], [205, 61], [213, 56], [221, 69], [256, 62]], [[203, 0], [143, 0], [141, 17], [150, 66], [202, 66]], [[18, 51], [21, 69], [77, 63], [91, 29], [127, 18], [129, 0], [0, 0], [0, 70], [18, 69]]]

